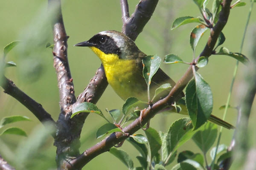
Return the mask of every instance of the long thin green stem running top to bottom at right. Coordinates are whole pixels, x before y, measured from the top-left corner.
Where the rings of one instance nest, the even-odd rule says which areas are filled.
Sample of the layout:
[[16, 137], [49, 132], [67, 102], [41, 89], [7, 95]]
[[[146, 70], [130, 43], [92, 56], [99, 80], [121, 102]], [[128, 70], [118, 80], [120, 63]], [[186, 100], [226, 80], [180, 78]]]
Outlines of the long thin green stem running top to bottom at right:
[[[244, 34], [243, 34], [243, 38], [242, 38], [242, 41], [241, 41], [241, 46], [240, 46], [240, 51], [239, 51], [239, 53], [242, 52], [242, 48], [243, 48], [243, 45], [244, 45], [245, 34], [246, 34], [247, 27], [248, 27], [248, 24], [249, 24], [249, 20], [250, 20], [250, 15], [251, 15], [251, 12], [252, 12], [252, 8], [253, 8], [253, 0], [251, 0], [251, 6], [250, 6], [249, 14], [248, 14], [248, 17], [247, 17], [247, 22], [246, 22], [246, 24], [245, 24]], [[232, 90], [233, 90], [233, 85], [234, 85], [234, 82], [235, 82], [235, 79], [236, 79], [236, 73], [237, 73], [238, 65], [239, 65], [239, 61], [236, 62], [236, 66], [235, 66], [235, 68], [234, 68], [233, 79], [232, 79], [232, 82], [231, 82], [231, 85], [230, 85], [229, 94], [228, 94], [228, 96], [227, 96], [227, 103], [226, 103], [226, 106], [225, 106], [225, 111], [224, 111], [224, 115], [223, 115], [223, 120], [225, 120], [225, 117], [226, 117], [226, 114], [227, 114], [227, 109], [228, 109], [228, 106], [229, 106], [229, 103], [230, 103], [230, 98], [231, 98], [231, 93], [232, 93]], [[213, 158], [212, 164], [211, 164], [211, 170], [213, 170], [213, 167], [214, 167], [214, 162], [215, 162], [215, 159], [216, 159], [216, 154], [217, 154], [218, 146], [219, 146], [219, 144], [220, 144], [222, 129], [223, 129], [223, 127], [221, 126], [221, 128], [220, 128], [220, 133], [219, 133], [219, 136], [218, 136], [218, 142], [217, 142], [217, 146], [216, 146], [216, 150], [215, 150], [215, 154], [214, 154], [214, 158]]]

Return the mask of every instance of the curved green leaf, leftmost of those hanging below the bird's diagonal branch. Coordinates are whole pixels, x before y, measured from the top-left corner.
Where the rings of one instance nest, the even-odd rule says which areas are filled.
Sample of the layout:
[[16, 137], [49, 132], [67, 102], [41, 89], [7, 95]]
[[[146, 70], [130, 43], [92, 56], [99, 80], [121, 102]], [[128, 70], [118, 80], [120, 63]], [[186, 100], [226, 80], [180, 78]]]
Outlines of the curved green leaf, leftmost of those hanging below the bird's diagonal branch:
[[112, 147], [109, 150], [109, 153], [113, 154], [116, 156], [116, 158], [122, 161], [122, 163], [124, 163], [129, 168], [129, 170], [133, 170], [134, 163], [131, 160], [131, 157], [125, 151]]

